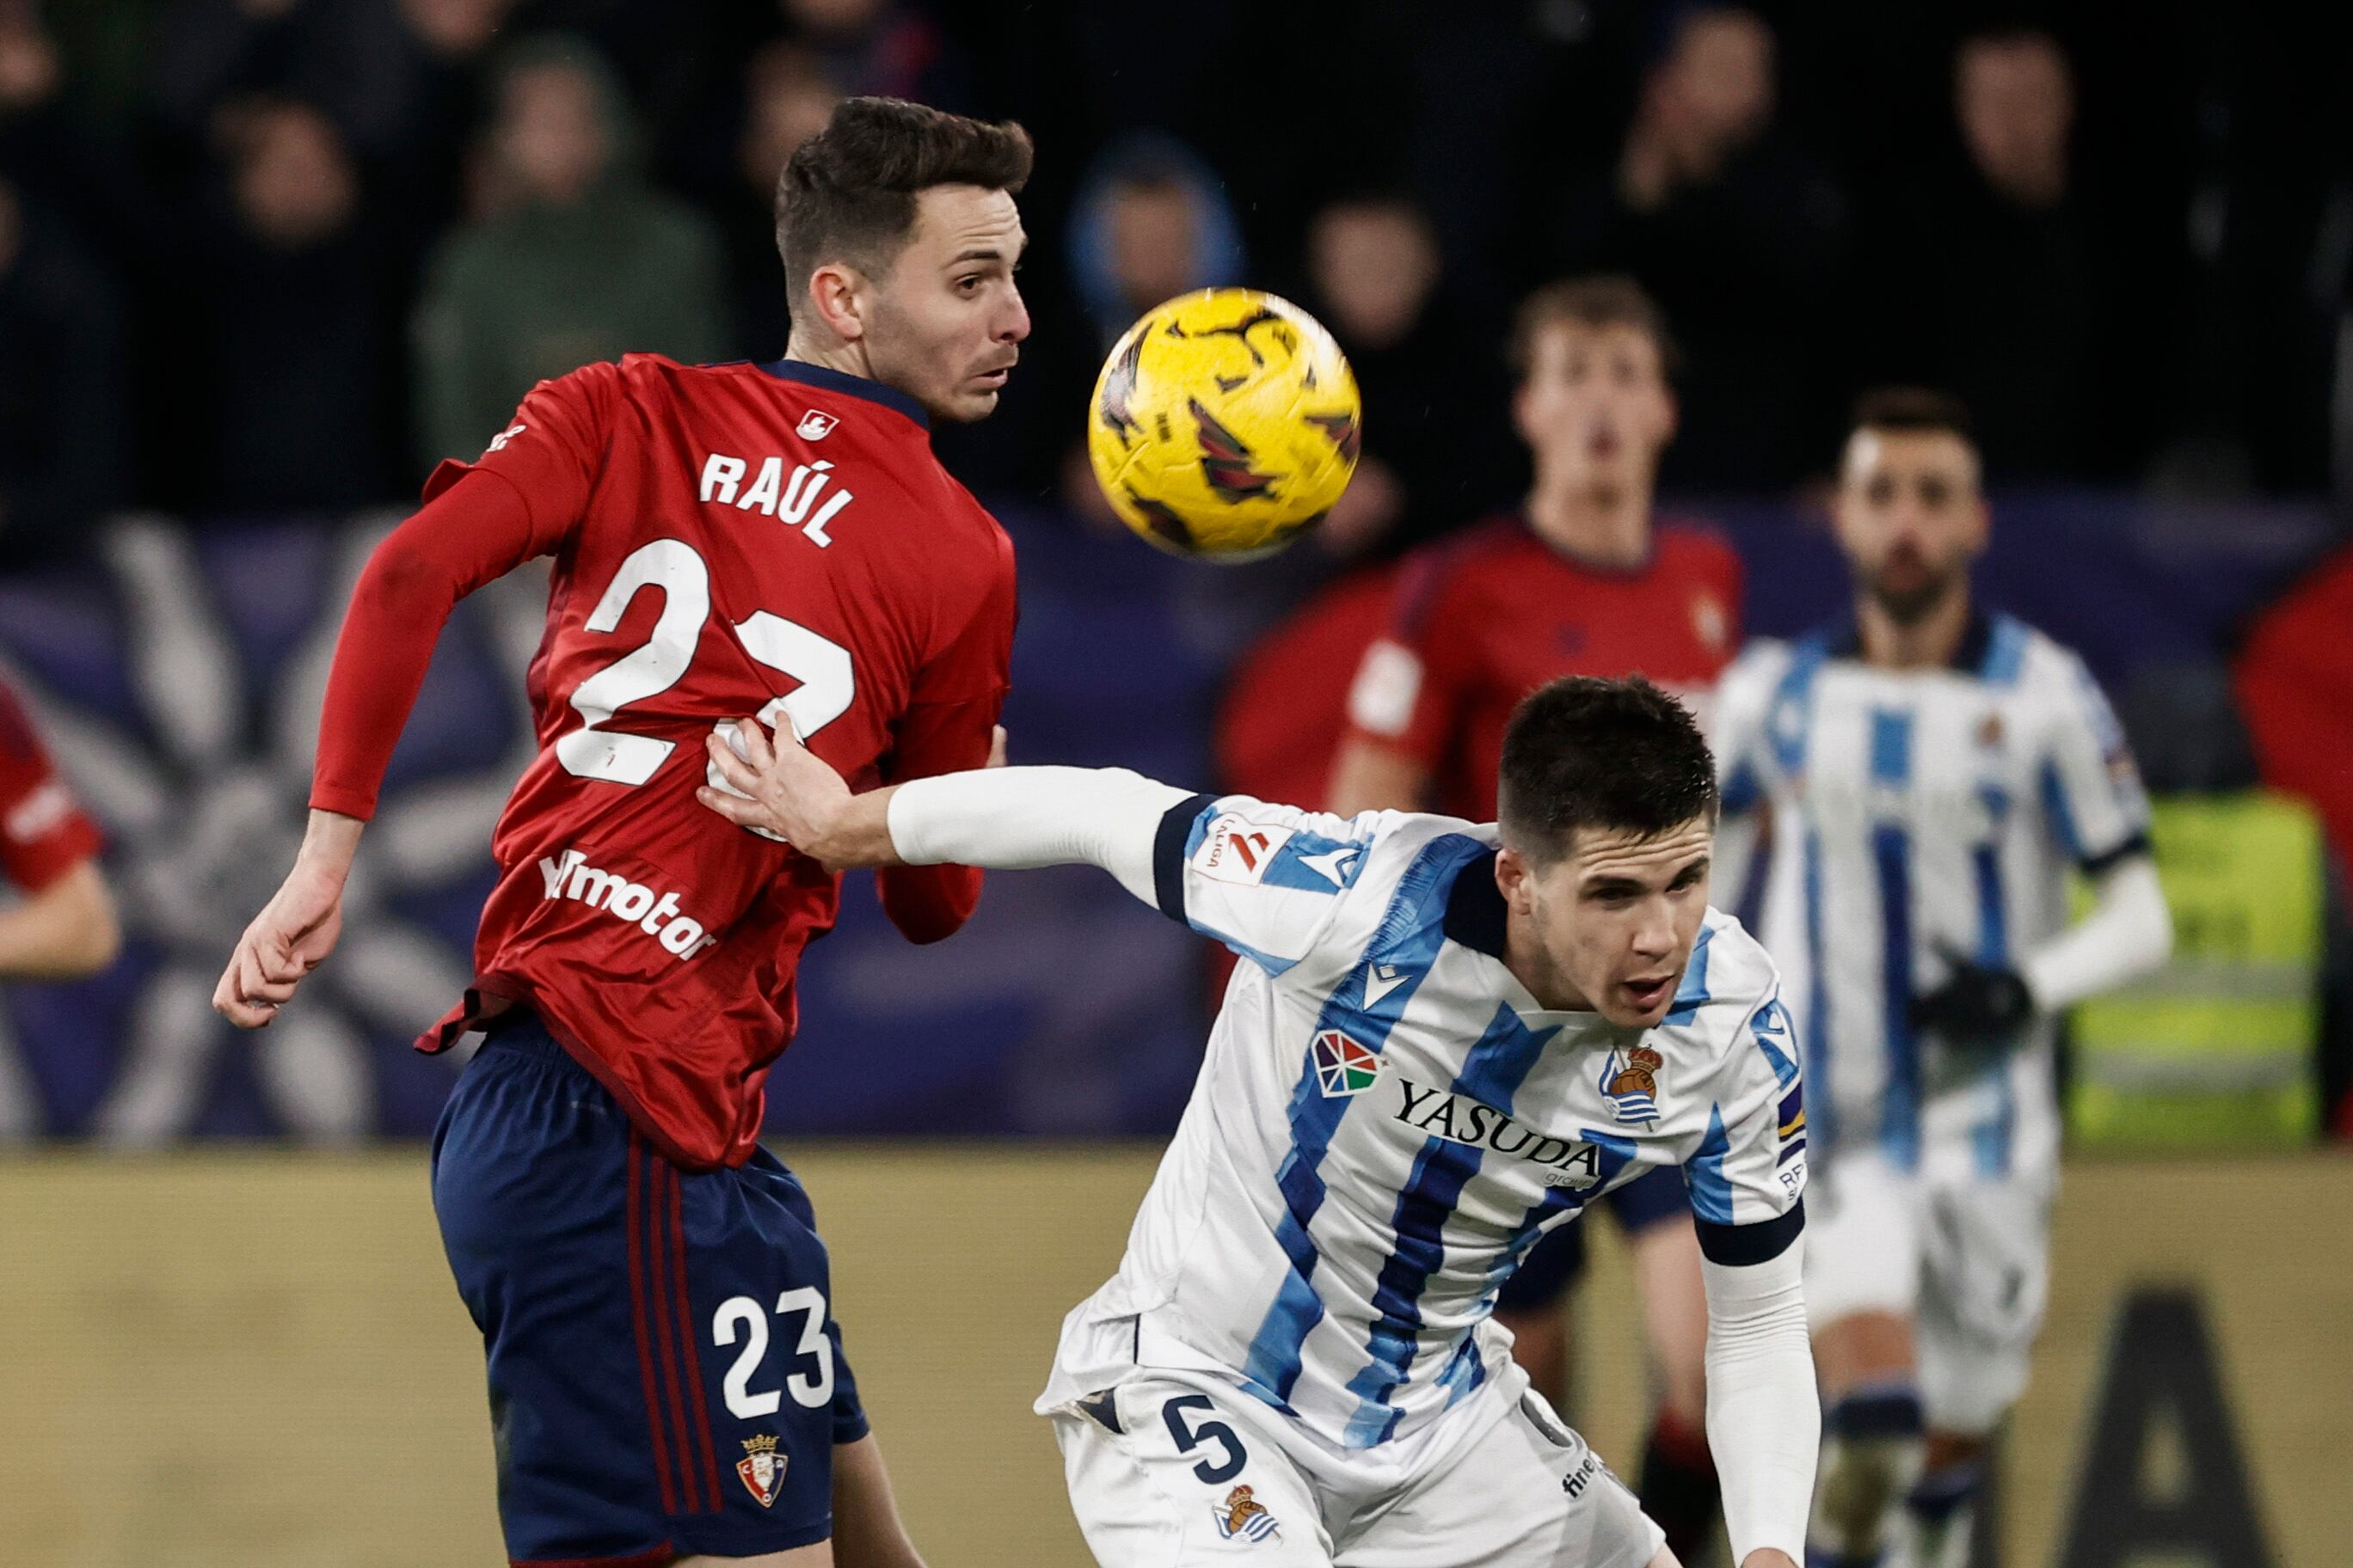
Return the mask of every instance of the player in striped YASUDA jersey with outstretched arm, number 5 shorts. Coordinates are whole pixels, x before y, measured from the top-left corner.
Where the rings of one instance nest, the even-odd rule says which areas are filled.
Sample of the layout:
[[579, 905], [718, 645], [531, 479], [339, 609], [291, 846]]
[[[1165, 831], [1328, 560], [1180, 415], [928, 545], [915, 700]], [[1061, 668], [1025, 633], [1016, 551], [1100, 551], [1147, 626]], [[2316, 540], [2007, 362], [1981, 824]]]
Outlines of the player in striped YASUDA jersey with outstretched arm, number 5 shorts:
[[849, 795], [739, 731], [748, 762], [711, 757], [744, 797], [704, 804], [826, 865], [1087, 860], [1247, 959], [1038, 1401], [1104, 1563], [1671, 1568], [1489, 1314], [1544, 1229], [1680, 1166], [1732, 1547], [1793, 1568], [1819, 1439], [1798, 1063], [1772, 961], [1706, 907], [1715, 773], [1675, 698], [1539, 689], [1485, 827], [1085, 769]]

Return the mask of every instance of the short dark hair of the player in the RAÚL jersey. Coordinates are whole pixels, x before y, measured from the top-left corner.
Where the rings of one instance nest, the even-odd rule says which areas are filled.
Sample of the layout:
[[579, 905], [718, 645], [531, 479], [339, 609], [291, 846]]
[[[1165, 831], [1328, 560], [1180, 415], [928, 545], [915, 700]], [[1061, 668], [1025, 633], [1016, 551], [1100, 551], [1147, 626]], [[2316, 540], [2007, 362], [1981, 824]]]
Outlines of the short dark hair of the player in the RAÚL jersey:
[[809, 273], [849, 261], [880, 275], [915, 228], [915, 195], [932, 186], [1019, 193], [1031, 139], [1012, 120], [988, 125], [906, 99], [842, 99], [776, 176], [776, 254], [793, 317], [807, 310]]

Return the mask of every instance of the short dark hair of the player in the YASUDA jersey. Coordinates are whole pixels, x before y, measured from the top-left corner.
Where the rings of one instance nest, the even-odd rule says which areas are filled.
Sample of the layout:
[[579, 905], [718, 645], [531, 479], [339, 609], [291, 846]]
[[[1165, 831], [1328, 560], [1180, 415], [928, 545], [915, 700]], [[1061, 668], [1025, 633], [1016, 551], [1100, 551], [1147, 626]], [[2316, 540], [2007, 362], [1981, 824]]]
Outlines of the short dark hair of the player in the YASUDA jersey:
[[1657, 835], [1715, 816], [1715, 757], [1692, 710], [1640, 675], [1565, 675], [1504, 726], [1504, 844], [1548, 865], [1579, 827]]

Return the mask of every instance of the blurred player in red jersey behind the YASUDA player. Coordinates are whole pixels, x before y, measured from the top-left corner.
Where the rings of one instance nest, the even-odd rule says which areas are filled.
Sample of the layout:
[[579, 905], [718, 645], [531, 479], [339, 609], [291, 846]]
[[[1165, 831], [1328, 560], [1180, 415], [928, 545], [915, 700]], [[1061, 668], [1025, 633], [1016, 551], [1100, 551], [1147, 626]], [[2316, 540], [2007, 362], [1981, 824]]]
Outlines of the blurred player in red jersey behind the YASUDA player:
[[[1659, 308], [1624, 277], [1539, 289], [1513, 327], [1513, 423], [1534, 454], [1527, 503], [1407, 557], [1388, 632], [1358, 668], [1329, 809], [1435, 804], [1485, 823], [1504, 722], [1560, 675], [1647, 675], [1701, 705], [1739, 646], [1741, 571], [1713, 534], [1654, 524], [1659, 454], [1675, 433]], [[1685, 1561], [1715, 1530], [1706, 1441], [1706, 1295], [1689, 1201], [1673, 1171], [1609, 1199], [1633, 1241], [1661, 1373], [1642, 1450], [1642, 1507]], [[1574, 1229], [1532, 1251], [1497, 1302], [1546, 1394], [1567, 1378], [1562, 1298], [1584, 1267]]]

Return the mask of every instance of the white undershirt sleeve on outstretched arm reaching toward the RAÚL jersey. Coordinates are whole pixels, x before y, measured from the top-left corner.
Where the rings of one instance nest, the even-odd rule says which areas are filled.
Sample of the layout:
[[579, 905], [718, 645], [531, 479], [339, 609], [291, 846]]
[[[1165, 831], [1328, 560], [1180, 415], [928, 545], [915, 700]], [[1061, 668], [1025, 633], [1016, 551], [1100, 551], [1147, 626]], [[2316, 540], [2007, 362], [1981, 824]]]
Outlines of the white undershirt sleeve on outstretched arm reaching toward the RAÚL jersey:
[[986, 769], [899, 785], [889, 842], [908, 865], [1101, 865], [1153, 903], [1153, 837], [1186, 790], [1127, 769]]

